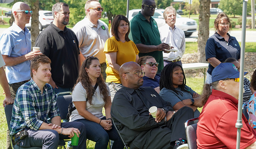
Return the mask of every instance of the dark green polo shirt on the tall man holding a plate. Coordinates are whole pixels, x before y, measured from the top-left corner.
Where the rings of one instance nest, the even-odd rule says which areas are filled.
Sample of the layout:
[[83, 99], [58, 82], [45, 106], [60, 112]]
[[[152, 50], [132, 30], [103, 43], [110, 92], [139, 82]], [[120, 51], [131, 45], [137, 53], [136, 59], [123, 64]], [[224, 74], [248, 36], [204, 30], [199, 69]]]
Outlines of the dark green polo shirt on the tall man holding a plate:
[[[160, 34], [158, 31], [158, 26], [155, 20], [150, 17], [150, 22], [140, 13], [134, 16], [130, 21], [131, 32], [129, 38], [133, 40], [135, 44], [145, 44], [145, 45], [159, 45], [161, 44]], [[162, 51], [153, 51], [148, 53], [139, 53], [139, 57], [150, 55], [155, 58], [159, 63], [158, 73], [164, 68], [164, 59]]]

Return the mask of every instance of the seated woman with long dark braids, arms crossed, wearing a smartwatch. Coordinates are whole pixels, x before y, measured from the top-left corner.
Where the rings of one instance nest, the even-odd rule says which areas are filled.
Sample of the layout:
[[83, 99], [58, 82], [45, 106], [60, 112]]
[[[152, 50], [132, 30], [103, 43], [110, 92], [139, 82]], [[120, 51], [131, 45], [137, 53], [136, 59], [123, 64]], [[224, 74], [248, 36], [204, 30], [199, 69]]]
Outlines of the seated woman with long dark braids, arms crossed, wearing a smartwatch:
[[198, 117], [200, 112], [198, 107], [202, 107], [199, 94], [186, 85], [186, 77], [181, 65], [170, 63], [164, 66], [160, 78], [159, 95], [169, 101], [174, 110], [179, 110], [183, 106], [188, 106], [194, 110], [194, 117]]

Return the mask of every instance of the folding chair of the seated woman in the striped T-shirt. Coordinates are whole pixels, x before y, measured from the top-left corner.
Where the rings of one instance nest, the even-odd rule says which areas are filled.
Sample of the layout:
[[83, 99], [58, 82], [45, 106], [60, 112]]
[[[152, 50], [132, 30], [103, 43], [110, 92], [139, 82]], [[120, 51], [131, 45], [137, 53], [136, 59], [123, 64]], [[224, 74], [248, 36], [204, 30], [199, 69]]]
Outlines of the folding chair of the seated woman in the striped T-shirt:
[[[61, 92], [56, 94], [56, 96], [59, 94], [70, 94], [70, 93]], [[62, 120], [65, 120], [67, 118], [68, 106], [69, 106], [69, 103], [71, 102], [72, 102], [72, 95], [57, 96], [57, 105], [60, 110]], [[68, 142], [68, 141], [71, 141], [71, 140], [70, 139], [65, 140], [65, 142]], [[89, 140], [86, 141], [86, 148], [88, 148], [88, 145], [89, 145]], [[111, 149], [110, 141], [108, 142], [108, 146], [109, 146], [109, 149]]]

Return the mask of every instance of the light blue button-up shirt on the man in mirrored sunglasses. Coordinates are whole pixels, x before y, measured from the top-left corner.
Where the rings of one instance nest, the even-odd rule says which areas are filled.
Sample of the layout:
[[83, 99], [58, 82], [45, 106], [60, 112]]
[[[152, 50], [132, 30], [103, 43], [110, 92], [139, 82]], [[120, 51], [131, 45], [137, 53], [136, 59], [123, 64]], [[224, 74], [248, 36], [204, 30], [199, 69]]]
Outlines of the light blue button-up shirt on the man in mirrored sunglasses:
[[[25, 27], [24, 31], [13, 22], [0, 38], [0, 51], [2, 55], [19, 57], [31, 52], [31, 35]], [[24, 61], [14, 66], [7, 66], [5, 70], [9, 84], [22, 82], [31, 78], [30, 61]]]

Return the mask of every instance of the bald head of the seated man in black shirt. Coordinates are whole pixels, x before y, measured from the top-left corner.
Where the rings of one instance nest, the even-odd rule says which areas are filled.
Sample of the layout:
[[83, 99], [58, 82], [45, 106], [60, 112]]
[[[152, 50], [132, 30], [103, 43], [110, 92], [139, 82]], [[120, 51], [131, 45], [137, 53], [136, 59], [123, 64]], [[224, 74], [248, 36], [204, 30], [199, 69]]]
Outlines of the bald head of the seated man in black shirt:
[[119, 75], [121, 78], [122, 85], [128, 88], [137, 89], [143, 85], [142, 75], [137, 76], [136, 73], [142, 71], [139, 64], [130, 61], [121, 65], [119, 69]]

